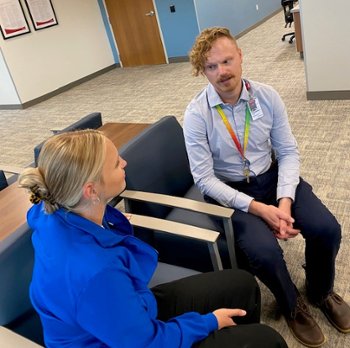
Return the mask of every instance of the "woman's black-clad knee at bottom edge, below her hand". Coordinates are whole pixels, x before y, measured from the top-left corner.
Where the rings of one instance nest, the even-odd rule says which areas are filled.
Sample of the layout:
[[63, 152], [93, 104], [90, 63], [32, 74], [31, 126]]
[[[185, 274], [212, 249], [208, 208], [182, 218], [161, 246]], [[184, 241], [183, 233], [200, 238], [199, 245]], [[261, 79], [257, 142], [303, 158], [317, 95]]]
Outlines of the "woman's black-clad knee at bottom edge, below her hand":
[[288, 348], [283, 337], [262, 324], [237, 325], [215, 331], [196, 348]]

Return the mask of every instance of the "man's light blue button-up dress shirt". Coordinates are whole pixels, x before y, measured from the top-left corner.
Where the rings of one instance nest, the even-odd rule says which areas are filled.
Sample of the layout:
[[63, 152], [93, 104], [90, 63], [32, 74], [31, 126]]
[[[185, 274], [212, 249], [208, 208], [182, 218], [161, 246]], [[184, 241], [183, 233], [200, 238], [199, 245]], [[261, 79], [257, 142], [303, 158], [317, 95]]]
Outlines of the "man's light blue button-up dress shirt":
[[[243, 81], [242, 81], [243, 83]], [[265, 173], [271, 166], [272, 149], [278, 160], [277, 200], [294, 200], [299, 183], [299, 152], [292, 134], [285, 105], [270, 86], [249, 81], [250, 94], [257, 98], [262, 114], [251, 114], [249, 141], [245, 157], [251, 175]], [[209, 83], [188, 105], [184, 118], [184, 136], [192, 175], [202, 194], [224, 206], [247, 212], [252, 197], [225, 182], [244, 180], [243, 160], [216, 105], [221, 105], [242, 147], [245, 110], [249, 100], [245, 84], [235, 105], [225, 104]]]

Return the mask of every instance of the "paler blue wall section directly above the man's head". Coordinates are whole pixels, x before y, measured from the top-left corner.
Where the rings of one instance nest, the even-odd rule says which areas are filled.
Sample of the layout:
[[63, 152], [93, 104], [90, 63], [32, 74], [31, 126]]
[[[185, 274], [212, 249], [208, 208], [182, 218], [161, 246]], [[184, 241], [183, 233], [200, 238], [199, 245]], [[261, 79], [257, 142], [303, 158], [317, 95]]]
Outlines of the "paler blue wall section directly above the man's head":
[[[281, 9], [280, 0], [194, 0], [199, 28], [220, 26], [237, 35]], [[258, 10], [256, 9], [258, 5]]]

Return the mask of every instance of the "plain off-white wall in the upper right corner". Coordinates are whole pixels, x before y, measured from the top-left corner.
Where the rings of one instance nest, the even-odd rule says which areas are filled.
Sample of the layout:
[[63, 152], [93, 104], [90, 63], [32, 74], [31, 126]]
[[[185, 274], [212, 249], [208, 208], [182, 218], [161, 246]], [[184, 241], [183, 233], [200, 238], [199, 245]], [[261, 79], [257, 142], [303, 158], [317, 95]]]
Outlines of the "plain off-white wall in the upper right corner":
[[350, 91], [350, 2], [299, 4], [307, 91]]

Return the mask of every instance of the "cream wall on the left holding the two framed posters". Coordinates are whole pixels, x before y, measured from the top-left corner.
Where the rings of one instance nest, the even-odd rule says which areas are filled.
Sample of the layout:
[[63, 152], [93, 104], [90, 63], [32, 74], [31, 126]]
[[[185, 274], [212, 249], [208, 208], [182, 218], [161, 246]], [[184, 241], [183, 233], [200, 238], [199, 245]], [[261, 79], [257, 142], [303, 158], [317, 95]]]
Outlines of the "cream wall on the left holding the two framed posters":
[[[31, 33], [1, 41], [22, 103], [114, 64], [97, 0], [52, 3], [58, 25], [35, 31], [27, 16]], [[2, 80], [1, 70], [0, 74]], [[12, 104], [10, 99], [4, 101], [2, 90], [1, 104]]]

